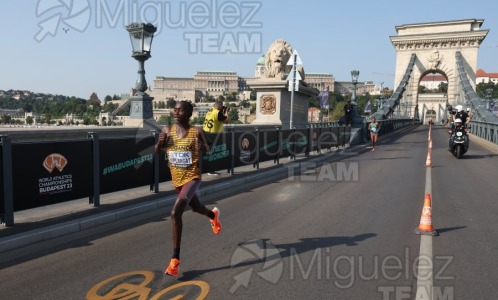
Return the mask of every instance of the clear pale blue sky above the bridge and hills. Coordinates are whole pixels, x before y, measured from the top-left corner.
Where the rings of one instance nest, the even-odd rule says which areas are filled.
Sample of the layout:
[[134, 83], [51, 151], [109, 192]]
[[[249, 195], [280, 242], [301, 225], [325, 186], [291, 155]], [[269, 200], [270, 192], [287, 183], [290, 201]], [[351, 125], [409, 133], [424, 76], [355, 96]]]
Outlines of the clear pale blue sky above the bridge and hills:
[[[0, 90], [76, 96], [129, 93], [138, 63], [126, 25], [157, 32], [145, 62], [156, 76], [192, 78], [197, 71], [253, 76], [276, 39], [297, 50], [305, 72], [336, 81], [393, 88], [396, 26], [483, 19], [489, 29], [477, 67], [498, 72], [498, 1], [464, 0], [2, 0]], [[153, 86], [152, 86], [153, 88]]]

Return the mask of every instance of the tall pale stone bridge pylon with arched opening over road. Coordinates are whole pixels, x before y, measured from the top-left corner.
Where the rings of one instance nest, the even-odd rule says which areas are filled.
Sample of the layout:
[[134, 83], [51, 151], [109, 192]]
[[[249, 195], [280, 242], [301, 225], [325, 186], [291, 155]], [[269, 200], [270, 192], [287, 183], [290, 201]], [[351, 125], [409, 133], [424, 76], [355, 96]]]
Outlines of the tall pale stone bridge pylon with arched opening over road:
[[[469, 82], [475, 90], [478, 50], [489, 32], [481, 30], [483, 22], [483, 19], [467, 19], [396, 26], [397, 35], [390, 37], [396, 49], [394, 87], [400, 85], [412, 55], [416, 55], [410, 79], [399, 102], [409, 110], [410, 116], [423, 117], [429, 111], [435, 113], [440, 121], [447, 105], [465, 105], [467, 99], [458, 86], [460, 81], [455, 54], [462, 54]], [[422, 94], [418, 93], [420, 80], [429, 73], [438, 73], [446, 78], [447, 94], [421, 97]]]

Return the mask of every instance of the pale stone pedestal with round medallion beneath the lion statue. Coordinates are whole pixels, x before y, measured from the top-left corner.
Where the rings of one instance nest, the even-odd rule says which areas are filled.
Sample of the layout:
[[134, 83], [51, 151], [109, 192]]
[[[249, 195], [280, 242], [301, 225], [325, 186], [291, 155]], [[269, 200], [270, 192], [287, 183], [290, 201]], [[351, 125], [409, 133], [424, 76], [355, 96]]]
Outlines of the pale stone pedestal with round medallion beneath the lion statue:
[[[262, 78], [251, 82], [256, 91], [256, 119], [253, 125], [274, 125], [290, 129], [291, 92], [288, 82], [280, 79]], [[294, 91], [292, 125], [306, 128], [308, 124], [309, 98], [318, 96], [318, 91], [303, 85]]]

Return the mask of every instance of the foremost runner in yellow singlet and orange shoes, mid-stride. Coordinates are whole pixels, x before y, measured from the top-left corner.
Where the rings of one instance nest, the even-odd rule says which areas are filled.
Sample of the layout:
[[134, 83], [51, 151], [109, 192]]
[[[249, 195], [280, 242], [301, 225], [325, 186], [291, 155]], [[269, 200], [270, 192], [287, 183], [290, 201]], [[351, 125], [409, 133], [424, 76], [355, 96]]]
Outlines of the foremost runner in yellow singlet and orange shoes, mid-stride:
[[180, 265], [180, 244], [182, 239], [182, 215], [187, 205], [192, 211], [209, 217], [212, 230], [215, 234], [221, 231], [218, 208], [207, 209], [197, 197], [197, 189], [201, 184], [201, 171], [198, 167], [201, 151], [207, 151], [206, 139], [200, 128], [189, 123], [193, 107], [190, 102], [180, 101], [173, 111], [175, 124], [165, 126], [159, 134], [159, 141], [155, 151], [161, 154], [166, 152], [171, 181], [176, 188], [178, 196], [171, 210], [173, 222], [173, 256], [165, 273], [178, 276]]

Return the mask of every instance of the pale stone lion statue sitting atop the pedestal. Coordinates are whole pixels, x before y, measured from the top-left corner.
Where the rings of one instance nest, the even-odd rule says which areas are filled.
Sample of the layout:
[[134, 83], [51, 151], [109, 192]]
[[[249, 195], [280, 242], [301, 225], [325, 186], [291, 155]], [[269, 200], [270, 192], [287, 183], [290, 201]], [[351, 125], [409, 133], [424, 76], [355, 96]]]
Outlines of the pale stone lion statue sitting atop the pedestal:
[[[266, 78], [277, 78], [286, 79], [289, 72], [292, 70], [292, 66], [288, 66], [287, 62], [292, 56], [292, 47], [285, 40], [278, 39], [274, 41], [265, 55], [265, 67], [266, 72], [264, 77]], [[302, 66], [298, 66], [299, 74], [301, 75], [301, 80], [304, 80], [304, 70]]]

